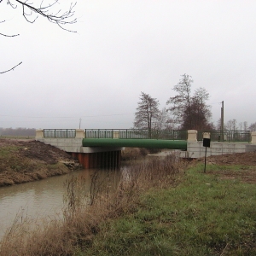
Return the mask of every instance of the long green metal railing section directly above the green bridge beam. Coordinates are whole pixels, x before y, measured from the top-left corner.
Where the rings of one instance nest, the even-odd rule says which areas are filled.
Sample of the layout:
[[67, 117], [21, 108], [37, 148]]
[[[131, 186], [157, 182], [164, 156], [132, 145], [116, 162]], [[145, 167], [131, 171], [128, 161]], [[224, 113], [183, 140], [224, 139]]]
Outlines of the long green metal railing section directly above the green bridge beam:
[[188, 131], [138, 129], [85, 129], [86, 138], [187, 140]]

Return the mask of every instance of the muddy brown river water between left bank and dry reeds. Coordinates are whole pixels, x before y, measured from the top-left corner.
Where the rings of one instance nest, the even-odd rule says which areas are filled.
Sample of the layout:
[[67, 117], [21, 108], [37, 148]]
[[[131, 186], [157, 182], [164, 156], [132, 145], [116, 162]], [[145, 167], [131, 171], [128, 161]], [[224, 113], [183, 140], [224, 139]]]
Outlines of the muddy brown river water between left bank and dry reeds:
[[61, 218], [64, 207], [63, 195], [67, 193], [67, 186], [64, 186], [64, 183], [72, 177], [81, 178], [89, 192], [90, 177], [95, 172], [98, 172], [101, 179], [107, 177], [112, 186], [119, 182], [119, 170], [90, 169], [0, 188], [0, 238], [14, 223], [17, 215], [32, 219]]

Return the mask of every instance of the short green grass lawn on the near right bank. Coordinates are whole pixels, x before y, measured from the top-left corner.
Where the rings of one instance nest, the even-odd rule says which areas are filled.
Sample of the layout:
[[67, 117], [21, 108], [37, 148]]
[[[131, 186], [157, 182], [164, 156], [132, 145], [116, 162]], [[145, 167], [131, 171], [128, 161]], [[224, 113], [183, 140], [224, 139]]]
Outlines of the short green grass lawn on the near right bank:
[[137, 211], [102, 223], [77, 255], [256, 255], [256, 186], [218, 177], [241, 167], [191, 168], [176, 188], [151, 190]]

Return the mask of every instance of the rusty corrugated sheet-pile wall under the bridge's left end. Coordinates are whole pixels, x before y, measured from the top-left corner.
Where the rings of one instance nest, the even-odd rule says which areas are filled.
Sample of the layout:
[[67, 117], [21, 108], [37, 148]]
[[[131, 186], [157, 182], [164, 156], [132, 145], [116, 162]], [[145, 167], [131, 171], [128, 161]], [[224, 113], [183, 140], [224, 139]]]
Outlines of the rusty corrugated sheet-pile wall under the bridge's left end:
[[74, 159], [84, 166], [84, 169], [120, 166], [121, 151], [107, 151], [95, 153], [72, 153]]

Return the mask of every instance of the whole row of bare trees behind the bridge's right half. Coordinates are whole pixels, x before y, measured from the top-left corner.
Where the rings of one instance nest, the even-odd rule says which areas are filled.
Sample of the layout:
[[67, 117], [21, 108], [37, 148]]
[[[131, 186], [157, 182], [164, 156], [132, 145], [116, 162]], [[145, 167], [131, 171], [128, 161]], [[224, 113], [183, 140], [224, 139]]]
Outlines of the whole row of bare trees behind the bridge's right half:
[[[182, 78], [172, 88], [175, 96], [166, 101], [166, 107], [160, 109], [160, 102], [141, 92], [137, 103], [134, 128], [146, 130], [220, 130], [220, 119], [217, 125], [212, 123], [211, 106], [207, 105], [209, 93], [199, 87], [192, 92], [193, 79], [184, 73]], [[256, 131], [256, 122], [237, 124], [236, 119], [230, 119], [224, 124], [225, 131]]]

